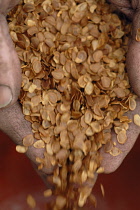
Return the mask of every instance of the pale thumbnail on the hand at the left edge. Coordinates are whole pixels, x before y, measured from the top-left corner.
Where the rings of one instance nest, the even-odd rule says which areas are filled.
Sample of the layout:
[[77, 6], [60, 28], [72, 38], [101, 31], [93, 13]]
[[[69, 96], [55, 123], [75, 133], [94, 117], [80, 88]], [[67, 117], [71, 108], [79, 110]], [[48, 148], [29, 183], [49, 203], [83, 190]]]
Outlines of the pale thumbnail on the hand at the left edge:
[[0, 85], [0, 108], [6, 107], [12, 101], [11, 89], [6, 85]]

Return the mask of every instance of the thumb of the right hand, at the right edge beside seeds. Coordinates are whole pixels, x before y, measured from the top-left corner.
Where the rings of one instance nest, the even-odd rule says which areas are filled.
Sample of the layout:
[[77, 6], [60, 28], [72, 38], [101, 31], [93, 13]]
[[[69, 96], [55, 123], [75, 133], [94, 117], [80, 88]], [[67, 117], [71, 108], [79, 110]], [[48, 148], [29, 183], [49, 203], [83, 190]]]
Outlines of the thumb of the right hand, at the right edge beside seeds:
[[140, 28], [140, 12], [134, 15], [132, 37], [128, 46], [126, 57], [126, 67], [130, 84], [134, 92], [140, 96], [140, 42], [138, 40], [137, 31]]

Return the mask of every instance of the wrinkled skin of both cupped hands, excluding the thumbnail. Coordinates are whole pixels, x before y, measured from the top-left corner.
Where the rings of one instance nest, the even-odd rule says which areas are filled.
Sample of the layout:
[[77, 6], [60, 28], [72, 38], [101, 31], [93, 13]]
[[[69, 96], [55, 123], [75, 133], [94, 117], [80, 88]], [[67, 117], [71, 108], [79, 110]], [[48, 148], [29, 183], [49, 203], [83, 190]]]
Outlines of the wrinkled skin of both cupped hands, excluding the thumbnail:
[[[24, 119], [21, 106], [17, 101], [21, 85], [20, 63], [8, 33], [8, 26], [5, 19], [8, 11], [18, 2], [18, 0], [0, 0], [0, 84], [9, 86], [13, 95], [10, 105], [0, 109], [0, 129], [16, 144], [22, 145], [23, 137], [32, 133], [32, 131], [31, 124]], [[140, 1], [110, 0], [110, 2], [133, 21], [132, 38], [127, 54], [127, 70], [132, 88], [140, 96], [140, 87], [138, 85], [140, 84], [140, 43], [135, 41], [136, 29], [140, 27]], [[136, 110], [127, 113], [127, 116], [133, 119], [135, 113], [140, 113], [140, 99], [137, 99]], [[117, 147], [122, 150], [122, 153], [117, 157], [112, 157], [110, 154], [104, 153], [104, 150], [101, 149], [103, 156], [102, 166], [105, 168], [105, 173], [111, 173], [121, 165], [139, 135], [139, 127], [134, 123], [130, 124], [129, 130], [127, 131], [128, 141], [125, 145], [119, 145], [116, 141], [116, 134], [112, 133], [112, 135], [113, 140], [116, 142]], [[43, 149], [37, 150], [30, 147], [27, 156], [33, 161], [34, 165], [36, 165], [35, 157], [43, 157], [43, 152]], [[40, 175], [45, 180], [46, 175], [51, 172], [52, 168], [48, 166], [48, 169], [43, 169]]]

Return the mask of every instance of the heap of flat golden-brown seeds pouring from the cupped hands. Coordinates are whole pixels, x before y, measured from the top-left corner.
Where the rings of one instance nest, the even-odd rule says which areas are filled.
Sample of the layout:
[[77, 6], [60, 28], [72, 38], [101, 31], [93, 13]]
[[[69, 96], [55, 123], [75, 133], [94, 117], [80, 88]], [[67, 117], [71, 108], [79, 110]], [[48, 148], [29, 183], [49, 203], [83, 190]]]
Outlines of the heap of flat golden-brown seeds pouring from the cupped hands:
[[34, 138], [45, 148], [38, 169], [54, 167], [56, 195], [51, 209], [82, 207], [91, 195], [100, 167], [100, 148], [117, 156], [111, 129], [120, 144], [127, 141], [134, 110], [125, 56], [130, 26], [105, 0], [24, 0], [10, 12], [9, 28], [21, 61], [20, 102]]

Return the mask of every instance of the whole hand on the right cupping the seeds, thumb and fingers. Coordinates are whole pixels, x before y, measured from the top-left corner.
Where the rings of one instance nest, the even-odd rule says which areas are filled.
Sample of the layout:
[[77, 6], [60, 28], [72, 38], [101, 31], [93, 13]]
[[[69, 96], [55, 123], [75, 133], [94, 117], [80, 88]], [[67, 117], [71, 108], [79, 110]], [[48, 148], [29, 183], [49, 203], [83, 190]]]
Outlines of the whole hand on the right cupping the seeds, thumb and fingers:
[[[140, 42], [136, 41], [137, 29], [140, 28], [140, 1], [139, 0], [110, 0], [121, 12], [123, 12], [130, 20], [132, 20], [132, 36], [129, 41], [126, 66], [133, 91], [140, 96]], [[140, 99], [137, 99], [137, 108], [134, 111], [128, 112], [126, 115], [132, 119], [135, 114], [140, 113]], [[124, 145], [119, 145], [116, 140], [116, 134], [113, 132], [113, 141], [116, 142], [116, 147], [121, 149], [122, 153], [117, 157], [111, 157], [110, 154], [104, 153], [102, 166], [105, 167], [105, 173], [115, 171], [122, 163], [126, 155], [133, 147], [139, 135], [140, 128], [134, 123], [131, 123], [127, 131], [128, 140]]]

